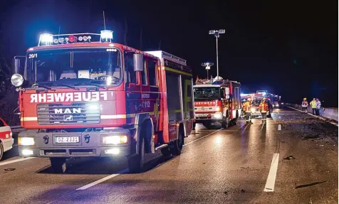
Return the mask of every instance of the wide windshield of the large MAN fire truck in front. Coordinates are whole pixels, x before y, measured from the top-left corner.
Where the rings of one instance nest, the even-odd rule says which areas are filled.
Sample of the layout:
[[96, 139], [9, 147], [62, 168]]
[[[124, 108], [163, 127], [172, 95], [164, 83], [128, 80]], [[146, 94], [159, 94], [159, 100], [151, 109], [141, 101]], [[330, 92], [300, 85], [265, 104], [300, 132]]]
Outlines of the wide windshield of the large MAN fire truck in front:
[[66, 79], [76, 85], [83, 78], [114, 86], [122, 81], [121, 55], [118, 49], [39, 50], [28, 53], [25, 74], [31, 85]]

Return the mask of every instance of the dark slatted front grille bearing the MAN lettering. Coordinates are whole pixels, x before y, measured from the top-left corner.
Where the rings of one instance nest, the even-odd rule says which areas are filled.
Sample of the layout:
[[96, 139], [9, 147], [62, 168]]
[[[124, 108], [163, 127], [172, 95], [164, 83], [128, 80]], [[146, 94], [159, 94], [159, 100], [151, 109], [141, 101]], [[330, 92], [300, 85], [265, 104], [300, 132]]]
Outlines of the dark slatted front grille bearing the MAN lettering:
[[38, 104], [38, 124], [98, 124], [100, 104], [79, 102], [73, 104]]

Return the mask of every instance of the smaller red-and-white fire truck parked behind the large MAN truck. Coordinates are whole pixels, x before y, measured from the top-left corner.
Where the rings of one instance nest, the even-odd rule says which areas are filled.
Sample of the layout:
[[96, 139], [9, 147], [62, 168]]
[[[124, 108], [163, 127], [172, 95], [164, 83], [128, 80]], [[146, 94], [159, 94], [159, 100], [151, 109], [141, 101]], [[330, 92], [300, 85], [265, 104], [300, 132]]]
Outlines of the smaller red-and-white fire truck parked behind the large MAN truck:
[[196, 123], [210, 128], [220, 122], [221, 127], [236, 124], [241, 114], [240, 83], [224, 80], [222, 77], [211, 80], [197, 80], [194, 90], [194, 113]]

